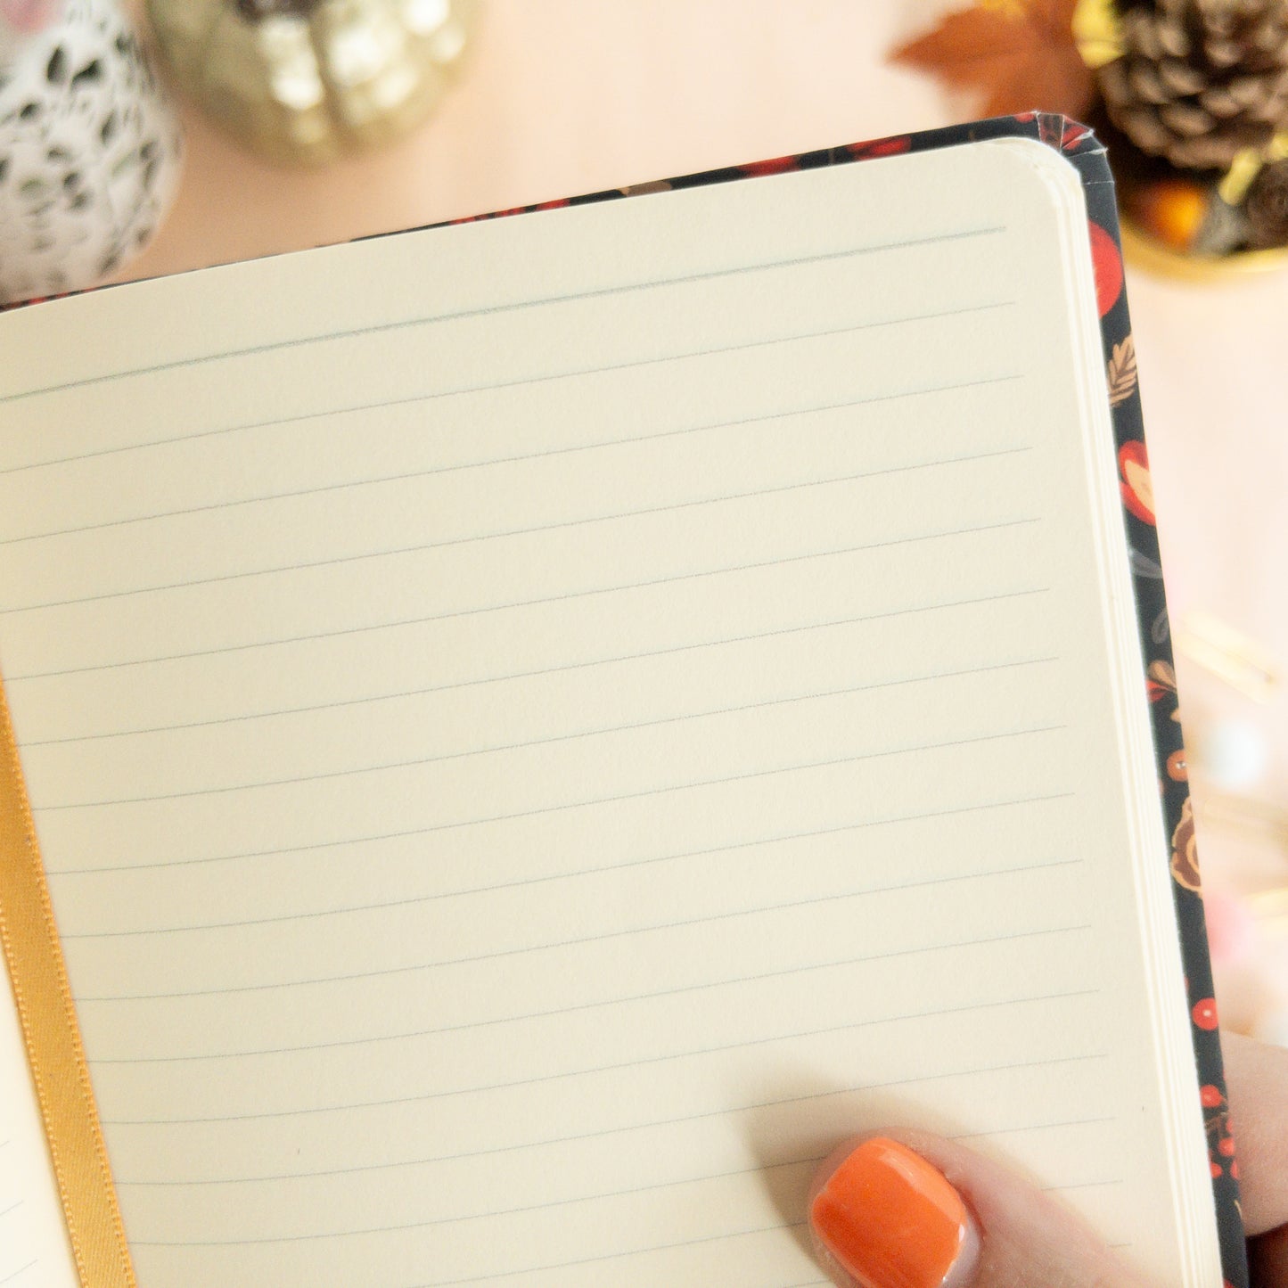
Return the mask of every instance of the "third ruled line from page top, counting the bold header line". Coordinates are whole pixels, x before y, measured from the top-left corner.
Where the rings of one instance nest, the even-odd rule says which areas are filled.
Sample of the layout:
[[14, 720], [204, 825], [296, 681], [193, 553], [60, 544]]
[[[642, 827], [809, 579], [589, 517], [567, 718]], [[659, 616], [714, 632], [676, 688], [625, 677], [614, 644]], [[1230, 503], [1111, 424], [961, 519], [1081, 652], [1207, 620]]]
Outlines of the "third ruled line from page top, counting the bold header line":
[[[804, 407], [788, 407], [784, 411], [768, 412], [761, 416], [741, 416], [734, 420], [707, 421], [701, 425], [681, 425], [677, 429], [662, 429], [652, 434], [632, 434], [629, 438], [605, 438], [591, 443], [572, 443], [564, 447], [547, 447], [538, 452], [519, 452], [511, 456], [489, 456], [477, 461], [459, 461], [452, 465], [434, 465], [426, 469], [404, 470], [399, 474], [379, 474], [370, 478], [359, 478], [340, 483], [322, 483], [316, 487], [295, 488], [286, 492], [264, 492], [258, 496], [234, 497], [227, 501], [215, 501], [209, 505], [184, 506], [175, 510], [155, 510], [149, 514], [128, 515], [124, 519], [108, 519], [102, 523], [86, 523], [72, 528], [54, 528], [48, 532], [22, 533], [15, 537], [0, 537], [0, 546], [13, 546], [32, 541], [44, 541], [50, 537], [79, 536], [85, 532], [102, 532], [108, 528], [121, 528], [134, 523], [151, 523], [157, 519], [185, 518], [193, 514], [209, 514], [219, 510], [231, 510], [241, 506], [263, 505], [272, 501], [294, 501], [301, 497], [323, 496], [330, 492], [353, 493], [367, 487], [377, 487], [385, 483], [408, 483], [416, 479], [435, 478], [442, 474], [460, 474], [468, 470], [488, 469], [493, 465], [516, 465], [527, 461], [547, 460], [555, 456], [571, 456], [578, 452], [598, 452], [614, 447], [632, 447], [640, 443], [656, 443], [668, 438], [683, 438], [689, 434], [708, 434], [721, 429], [738, 429], [744, 425], [764, 425], [775, 420], [790, 420], [793, 416], [814, 416], [831, 411], [849, 411], [855, 407], [867, 407], [875, 403], [891, 402], [899, 398], [927, 397], [938, 393], [956, 393], [961, 389], [978, 389], [984, 385], [1010, 384], [1023, 376], [989, 376], [984, 379], [958, 381], [948, 385], [933, 385], [917, 389], [912, 393], [881, 394], [867, 398], [846, 398], [840, 402], [811, 403]], [[346, 407], [335, 412], [316, 412], [314, 416], [343, 416], [358, 411], [372, 411], [379, 403]], [[246, 426], [249, 429], [268, 429], [278, 425], [289, 425], [299, 417], [287, 416], [283, 420], [265, 421], [261, 425]]]

